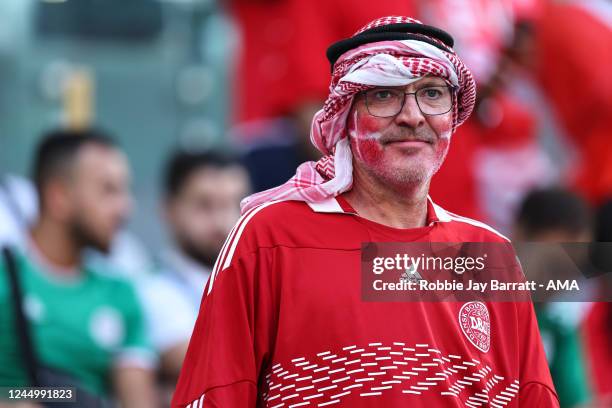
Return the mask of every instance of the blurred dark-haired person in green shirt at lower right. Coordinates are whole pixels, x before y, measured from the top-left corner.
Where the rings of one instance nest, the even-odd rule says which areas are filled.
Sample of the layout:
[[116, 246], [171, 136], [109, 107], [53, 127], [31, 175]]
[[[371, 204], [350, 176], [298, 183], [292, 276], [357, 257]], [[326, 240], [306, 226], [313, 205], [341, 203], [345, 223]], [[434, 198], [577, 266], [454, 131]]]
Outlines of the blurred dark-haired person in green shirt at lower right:
[[[575, 193], [558, 188], [535, 190], [519, 207], [515, 241], [562, 244], [586, 243], [592, 239], [591, 210]], [[545, 248], [535, 251], [533, 256], [540, 258], [540, 265], [555, 264], [554, 259], [546, 259]], [[588, 348], [582, 332], [590, 307], [589, 303], [556, 302], [554, 298], [535, 304], [550, 372], [563, 408], [592, 402]]]

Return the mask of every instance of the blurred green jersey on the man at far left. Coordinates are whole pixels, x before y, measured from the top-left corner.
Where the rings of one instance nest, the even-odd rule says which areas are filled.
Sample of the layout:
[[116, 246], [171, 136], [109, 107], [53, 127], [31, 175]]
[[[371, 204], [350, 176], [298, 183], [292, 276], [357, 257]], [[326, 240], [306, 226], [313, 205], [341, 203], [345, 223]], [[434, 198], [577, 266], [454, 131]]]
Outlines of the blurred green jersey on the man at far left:
[[[114, 364], [152, 363], [144, 317], [127, 281], [84, 267], [71, 279], [44, 271], [17, 254], [23, 305], [41, 365], [62, 371], [99, 395], [108, 395]], [[15, 309], [0, 262], [0, 386], [28, 379], [15, 328]]]

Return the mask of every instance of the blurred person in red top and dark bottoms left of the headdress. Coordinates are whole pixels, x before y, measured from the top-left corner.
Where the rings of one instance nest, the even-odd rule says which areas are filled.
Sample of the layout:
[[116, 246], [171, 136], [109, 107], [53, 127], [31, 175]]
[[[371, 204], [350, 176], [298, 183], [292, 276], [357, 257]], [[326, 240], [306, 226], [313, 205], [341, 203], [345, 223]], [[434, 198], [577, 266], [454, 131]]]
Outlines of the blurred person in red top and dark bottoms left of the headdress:
[[415, 15], [415, 0], [223, 3], [240, 38], [232, 134], [254, 191], [284, 183], [300, 163], [320, 157], [309, 135], [328, 93], [327, 46], [380, 15]]

